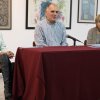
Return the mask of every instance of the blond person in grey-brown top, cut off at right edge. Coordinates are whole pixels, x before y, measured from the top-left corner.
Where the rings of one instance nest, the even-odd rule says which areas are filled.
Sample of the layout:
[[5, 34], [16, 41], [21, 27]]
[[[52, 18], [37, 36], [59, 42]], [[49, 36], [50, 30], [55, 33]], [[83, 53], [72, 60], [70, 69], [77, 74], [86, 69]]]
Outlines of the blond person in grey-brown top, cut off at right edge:
[[95, 18], [96, 27], [89, 30], [87, 44], [100, 44], [100, 14]]

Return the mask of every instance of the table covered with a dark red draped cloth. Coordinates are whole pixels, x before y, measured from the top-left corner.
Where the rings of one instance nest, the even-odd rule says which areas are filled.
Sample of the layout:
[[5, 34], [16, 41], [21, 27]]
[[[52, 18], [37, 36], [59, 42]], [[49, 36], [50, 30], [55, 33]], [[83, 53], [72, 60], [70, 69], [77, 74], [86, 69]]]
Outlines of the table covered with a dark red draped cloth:
[[100, 100], [100, 49], [18, 48], [13, 100]]

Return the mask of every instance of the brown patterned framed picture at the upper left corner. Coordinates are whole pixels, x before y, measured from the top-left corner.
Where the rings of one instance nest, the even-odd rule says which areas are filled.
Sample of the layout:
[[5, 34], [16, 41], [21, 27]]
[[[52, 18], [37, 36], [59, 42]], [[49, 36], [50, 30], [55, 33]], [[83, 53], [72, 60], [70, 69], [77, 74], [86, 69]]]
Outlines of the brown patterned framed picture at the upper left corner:
[[11, 29], [11, 0], [0, 0], [0, 29]]

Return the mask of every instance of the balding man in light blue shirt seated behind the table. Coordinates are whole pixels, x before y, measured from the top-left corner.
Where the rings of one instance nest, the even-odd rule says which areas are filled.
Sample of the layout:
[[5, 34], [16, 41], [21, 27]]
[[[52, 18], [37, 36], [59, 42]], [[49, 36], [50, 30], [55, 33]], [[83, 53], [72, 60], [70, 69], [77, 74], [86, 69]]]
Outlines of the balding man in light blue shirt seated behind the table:
[[45, 17], [36, 25], [34, 39], [37, 46], [67, 46], [66, 28], [57, 20], [58, 7], [44, 2]]

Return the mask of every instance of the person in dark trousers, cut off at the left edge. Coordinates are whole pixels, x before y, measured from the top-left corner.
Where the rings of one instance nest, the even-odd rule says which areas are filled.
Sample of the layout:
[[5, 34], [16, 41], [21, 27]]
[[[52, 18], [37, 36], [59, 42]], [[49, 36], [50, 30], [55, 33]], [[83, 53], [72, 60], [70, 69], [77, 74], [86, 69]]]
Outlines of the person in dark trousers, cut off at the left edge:
[[12, 95], [12, 64], [9, 58], [13, 58], [13, 56], [11, 51], [6, 51], [6, 45], [0, 33], [0, 67], [4, 80], [5, 100], [11, 100]]

